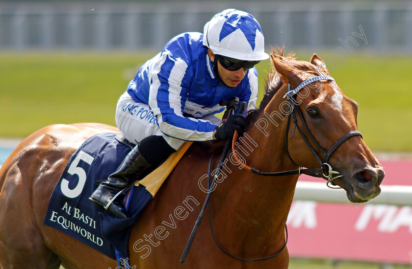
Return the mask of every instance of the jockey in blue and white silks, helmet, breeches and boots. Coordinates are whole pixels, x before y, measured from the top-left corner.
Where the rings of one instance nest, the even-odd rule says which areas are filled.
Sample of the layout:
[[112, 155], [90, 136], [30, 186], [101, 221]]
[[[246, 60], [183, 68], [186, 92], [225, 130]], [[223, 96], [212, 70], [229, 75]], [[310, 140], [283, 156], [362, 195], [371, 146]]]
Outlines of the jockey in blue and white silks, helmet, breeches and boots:
[[222, 123], [213, 114], [222, 112], [225, 107], [219, 102], [231, 97], [246, 102], [248, 110], [256, 108], [254, 66], [268, 58], [259, 23], [235, 9], [216, 14], [203, 34], [174, 37], [140, 68], [120, 96], [116, 124], [137, 146], [89, 200], [117, 218], [127, 218], [115, 195], [152, 172], [184, 141], [227, 140], [235, 130], [243, 134], [244, 115], [231, 115]]

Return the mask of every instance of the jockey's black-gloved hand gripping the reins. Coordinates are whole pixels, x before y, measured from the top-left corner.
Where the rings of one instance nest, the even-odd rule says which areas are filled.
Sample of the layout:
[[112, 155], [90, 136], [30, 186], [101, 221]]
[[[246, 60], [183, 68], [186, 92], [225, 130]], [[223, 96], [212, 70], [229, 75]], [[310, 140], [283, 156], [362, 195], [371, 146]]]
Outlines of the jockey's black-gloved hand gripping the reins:
[[246, 118], [243, 114], [230, 115], [229, 118], [215, 128], [214, 137], [219, 140], [228, 140], [233, 137], [234, 131], [242, 135], [246, 129]]

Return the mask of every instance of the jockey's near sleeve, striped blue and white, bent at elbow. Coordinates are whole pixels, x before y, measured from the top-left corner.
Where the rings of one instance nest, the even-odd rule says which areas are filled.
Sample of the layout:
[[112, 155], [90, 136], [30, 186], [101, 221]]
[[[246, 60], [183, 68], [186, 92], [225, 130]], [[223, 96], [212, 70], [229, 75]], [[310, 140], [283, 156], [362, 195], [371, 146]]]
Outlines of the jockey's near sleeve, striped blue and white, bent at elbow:
[[188, 141], [212, 140], [216, 125], [183, 116], [193, 76], [189, 61], [163, 51], [151, 65], [149, 106], [163, 134]]

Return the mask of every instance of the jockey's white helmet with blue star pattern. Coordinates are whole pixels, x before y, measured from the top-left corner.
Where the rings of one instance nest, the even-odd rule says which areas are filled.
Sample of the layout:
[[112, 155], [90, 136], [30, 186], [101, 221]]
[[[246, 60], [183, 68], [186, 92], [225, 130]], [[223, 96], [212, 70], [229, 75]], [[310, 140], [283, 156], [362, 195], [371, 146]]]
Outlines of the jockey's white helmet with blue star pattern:
[[244, 61], [269, 58], [258, 21], [244, 11], [226, 9], [205, 24], [203, 45], [214, 54]]

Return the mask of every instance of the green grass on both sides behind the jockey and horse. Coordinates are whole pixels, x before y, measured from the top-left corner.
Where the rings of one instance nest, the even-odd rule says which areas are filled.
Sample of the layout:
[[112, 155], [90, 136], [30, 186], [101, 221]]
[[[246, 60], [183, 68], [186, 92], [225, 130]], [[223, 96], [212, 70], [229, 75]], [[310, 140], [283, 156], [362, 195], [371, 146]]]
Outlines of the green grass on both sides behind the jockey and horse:
[[[118, 97], [137, 68], [154, 54], [0, 53], [0, 137], [25, 137], [54, 123], [115, 125]], [[335, 60], [332, 76], [359, 103], [359, 130], [369, 147], [412, 152], [412, 57], [353, 53], [343, 65], [332, 53], [318, 54]], [[297, 56], [310, 59], [309, 54]], [[269, 61], [258, 69], [262, 93]]]

